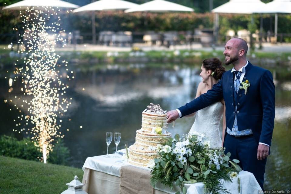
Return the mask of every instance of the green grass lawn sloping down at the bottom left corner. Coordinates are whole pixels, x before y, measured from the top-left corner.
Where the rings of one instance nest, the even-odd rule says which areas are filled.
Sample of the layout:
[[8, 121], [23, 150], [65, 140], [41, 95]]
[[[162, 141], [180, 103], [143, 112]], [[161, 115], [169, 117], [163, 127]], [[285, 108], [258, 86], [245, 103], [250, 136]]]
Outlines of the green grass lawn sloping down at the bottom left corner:
[[1, 194], [60, 194], [75, 175], [82, 182], [82, 169], [0, 156]]

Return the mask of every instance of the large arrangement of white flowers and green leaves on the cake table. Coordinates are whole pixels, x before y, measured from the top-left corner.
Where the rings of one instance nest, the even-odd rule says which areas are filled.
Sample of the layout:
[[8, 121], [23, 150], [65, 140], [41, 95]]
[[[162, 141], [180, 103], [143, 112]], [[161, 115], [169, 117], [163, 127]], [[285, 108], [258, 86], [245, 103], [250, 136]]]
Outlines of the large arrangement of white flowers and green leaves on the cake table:
[[186, 193], [185, 183], [203, 182], [205, 192], [218, 194], [229, 193], [220, 179], [231, 181], [231, 173], [242, 169], [238, 160], [230, 160], [230, 153], [224, 154], [223, 148], [213, 149], [209, 142], [200, 134], [177, 134], [175, 139], [167, 139], [156, 147], [158, 158], [149, 162], [151, 170], [151, 185], [160, 181], [173, 189], [173, 184], [179, 186], [176, 194]]

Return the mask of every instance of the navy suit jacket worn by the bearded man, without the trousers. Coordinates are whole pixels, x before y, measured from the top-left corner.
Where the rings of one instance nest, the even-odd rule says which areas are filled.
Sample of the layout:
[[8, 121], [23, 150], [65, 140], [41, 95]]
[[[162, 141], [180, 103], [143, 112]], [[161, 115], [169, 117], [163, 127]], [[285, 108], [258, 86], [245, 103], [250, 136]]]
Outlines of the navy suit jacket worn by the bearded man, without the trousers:
[[[182, 117], [203, 109], [222, 98], [226, 105], [226, 127], [232, 129], [237, 105], [238, 130], [252, 129], [257, 142], [271, 146], [275, 118], [275, 85], [271, 72], [252, 65], [246, 66], [243, 81], [249, 80], [250, 87], [233, 94], [234, 73], [225, 72], [211, 90], [179, 108]], [[234, 99], [236, 96], [236, 99]]]

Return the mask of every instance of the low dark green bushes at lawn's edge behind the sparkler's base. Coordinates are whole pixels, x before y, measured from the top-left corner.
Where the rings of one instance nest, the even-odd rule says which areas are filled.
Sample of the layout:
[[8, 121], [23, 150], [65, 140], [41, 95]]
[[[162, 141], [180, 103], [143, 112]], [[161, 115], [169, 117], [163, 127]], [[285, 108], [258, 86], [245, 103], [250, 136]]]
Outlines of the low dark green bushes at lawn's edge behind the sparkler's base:
[[[65, 147], [63, 140], [57, 139], [53, 146], [54, 150], [50, 152], [47, 161], [53, 164], [68, 164], [69, 149]], [[18, 141], [6, 135], [0, 136], [0, 155], [33, 161], [40, 161], [42, 158], [42, 153], [29, 138]]]

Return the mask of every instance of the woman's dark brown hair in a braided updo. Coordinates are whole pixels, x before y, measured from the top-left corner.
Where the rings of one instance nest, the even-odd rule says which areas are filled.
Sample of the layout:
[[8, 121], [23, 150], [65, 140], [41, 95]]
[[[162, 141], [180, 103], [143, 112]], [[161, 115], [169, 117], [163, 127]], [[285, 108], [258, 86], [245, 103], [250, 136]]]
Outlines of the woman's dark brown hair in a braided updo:
[[222, 62], [217, 58], [205, 59], [202, 65], [206, 70], [211, 70], [212, 76], [216, 80], [221, 79], [222, 74], [225, 72]]

